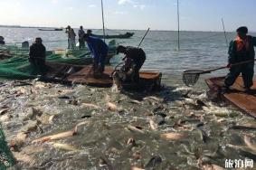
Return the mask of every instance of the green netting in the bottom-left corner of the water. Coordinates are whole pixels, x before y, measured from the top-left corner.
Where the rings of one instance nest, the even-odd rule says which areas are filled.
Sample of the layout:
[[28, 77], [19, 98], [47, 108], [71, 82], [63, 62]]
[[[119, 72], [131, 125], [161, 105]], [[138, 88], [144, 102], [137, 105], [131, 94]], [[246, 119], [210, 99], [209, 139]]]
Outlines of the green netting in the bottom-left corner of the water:
[[5, 134], [0, 126], [0, 169], [7, 169], [14, 163], [14, 156], [5, 141]]

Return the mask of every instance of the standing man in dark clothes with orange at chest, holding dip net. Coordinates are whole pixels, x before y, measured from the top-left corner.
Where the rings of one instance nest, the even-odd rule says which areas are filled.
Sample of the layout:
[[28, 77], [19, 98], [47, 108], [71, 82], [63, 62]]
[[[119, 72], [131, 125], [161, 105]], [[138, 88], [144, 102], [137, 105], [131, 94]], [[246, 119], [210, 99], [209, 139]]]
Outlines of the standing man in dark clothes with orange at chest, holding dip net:
[[[227, 67], [230, 68], [230, 72], [227, 74], [224, 80], [223, 93], [228, 92], [229, 88], [235, 82], [236, 78], [242, 73], [242, 80], [244, 89], [250, 90], [253, 85], [254, 74], [254, 48], [256, 46], [256, 37], [247, 35], [248, 28], [245, 26], [239, 27], [237, 30], [236, 38], [230, 42], [229, 47], [229, 59]], [[251, 61], [246, 64], [233, 66], [232, 64], [242, 61]]]

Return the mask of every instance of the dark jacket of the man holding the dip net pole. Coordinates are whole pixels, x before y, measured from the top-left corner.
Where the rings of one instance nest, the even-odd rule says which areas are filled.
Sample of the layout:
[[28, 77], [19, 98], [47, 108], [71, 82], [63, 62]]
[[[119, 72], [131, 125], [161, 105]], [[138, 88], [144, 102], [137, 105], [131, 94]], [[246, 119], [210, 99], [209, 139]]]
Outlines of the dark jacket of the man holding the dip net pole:
[[229, 63], [236, 63], [241, 61], [250, 61], [254, 60], [255, 52], [254, 47], [256, 46], [256, 37], [252, 37], [248, 35], [248, 41], [250, 43], [249, 49], [246, 49], [245, 47], [241, 50], [237, 50], [237, 42], [236, 40], [233, 40], [230, 42], [229, 46]]

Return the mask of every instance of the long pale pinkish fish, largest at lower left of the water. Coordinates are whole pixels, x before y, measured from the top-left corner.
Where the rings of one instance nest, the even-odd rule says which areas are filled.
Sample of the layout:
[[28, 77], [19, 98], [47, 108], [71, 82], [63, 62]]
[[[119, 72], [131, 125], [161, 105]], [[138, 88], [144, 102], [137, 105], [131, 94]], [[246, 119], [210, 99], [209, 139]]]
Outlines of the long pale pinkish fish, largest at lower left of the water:
[[51, 141], [51, 140], [62, 139], [62, 138], [66, 138], [66, 137], [72, 137], [72, 136], [77, 134], [78, 127], [80, 127], [81, 125], [85, 125], [86, 123], [87, 122], [81, 122], [81, 123], [77, 124], [71, 130], [66, 131], [66, 132], [62, 132], [62, 133], [58, 133], [58, 134], [55, 134], [55, 135], [40, 137], [40, 138], [34, 139], [32, 141], [32, 143], [43, 143], [43, 142], [47, 142], [47, 141]]

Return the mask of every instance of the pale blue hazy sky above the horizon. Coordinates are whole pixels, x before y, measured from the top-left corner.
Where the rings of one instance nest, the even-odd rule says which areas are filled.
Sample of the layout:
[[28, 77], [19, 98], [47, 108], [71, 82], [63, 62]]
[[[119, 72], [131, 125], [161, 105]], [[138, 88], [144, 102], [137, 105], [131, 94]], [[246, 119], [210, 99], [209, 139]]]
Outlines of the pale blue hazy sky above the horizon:
[[[256, 31], [255, 0], [179, 0], [180, 28]], [[109, 29], [177, 30], [177, 0], [103, 0]], [[102, 28], [100, 0], [0, 0], [0, 24]]]

